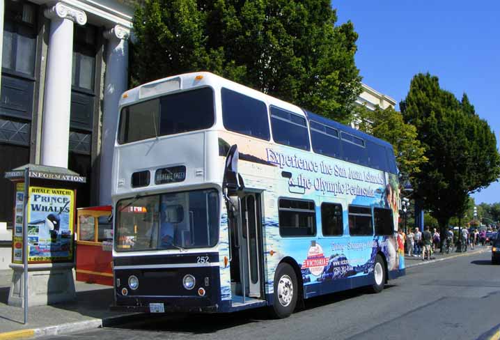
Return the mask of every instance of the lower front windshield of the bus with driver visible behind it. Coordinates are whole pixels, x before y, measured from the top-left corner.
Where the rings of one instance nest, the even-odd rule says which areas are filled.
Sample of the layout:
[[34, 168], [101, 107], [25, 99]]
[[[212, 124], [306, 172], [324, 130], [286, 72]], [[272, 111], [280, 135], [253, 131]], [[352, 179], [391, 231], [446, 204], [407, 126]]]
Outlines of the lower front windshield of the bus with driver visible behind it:
[[118, 252], [213, 247], [219, 238], [216, 190], [123, 199], [116, 212]]

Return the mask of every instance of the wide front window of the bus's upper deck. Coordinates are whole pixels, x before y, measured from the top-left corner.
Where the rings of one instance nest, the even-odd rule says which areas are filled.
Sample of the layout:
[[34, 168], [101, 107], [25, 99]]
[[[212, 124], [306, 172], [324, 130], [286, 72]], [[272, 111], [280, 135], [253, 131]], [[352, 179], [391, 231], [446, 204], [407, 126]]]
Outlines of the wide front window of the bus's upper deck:
[[124, 107], [118, 143], [208, 129], [214, 125], [212, 88], [173, 93]]

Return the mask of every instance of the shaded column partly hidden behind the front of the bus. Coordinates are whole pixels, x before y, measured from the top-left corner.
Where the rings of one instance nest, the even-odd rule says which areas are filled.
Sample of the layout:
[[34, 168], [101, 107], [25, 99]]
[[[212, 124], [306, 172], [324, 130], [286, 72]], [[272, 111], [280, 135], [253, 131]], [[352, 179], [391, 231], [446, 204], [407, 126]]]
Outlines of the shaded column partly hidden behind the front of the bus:
[[104, 76], [104, 112], [102, 116], [102, 146], [100, 160], [100, 205], [111, 204], [111, 168], [118, 126], [118, 102], [127, 90], [128, 42], [130, 30], [116, 25], [104, 32], [108, 40], [106, 73]]

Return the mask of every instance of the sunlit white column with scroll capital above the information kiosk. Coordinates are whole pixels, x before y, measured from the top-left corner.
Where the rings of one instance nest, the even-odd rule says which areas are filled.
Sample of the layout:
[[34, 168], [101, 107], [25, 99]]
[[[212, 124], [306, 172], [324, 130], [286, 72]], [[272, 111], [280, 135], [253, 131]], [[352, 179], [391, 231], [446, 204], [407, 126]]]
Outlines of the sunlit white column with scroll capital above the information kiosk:
[[43, 101], [41, 163], [68, 168], [70, 138], [73, 23], [84, 25], [84, 11], [58, 2], [45, 10], [49, 18], [49, 52]]

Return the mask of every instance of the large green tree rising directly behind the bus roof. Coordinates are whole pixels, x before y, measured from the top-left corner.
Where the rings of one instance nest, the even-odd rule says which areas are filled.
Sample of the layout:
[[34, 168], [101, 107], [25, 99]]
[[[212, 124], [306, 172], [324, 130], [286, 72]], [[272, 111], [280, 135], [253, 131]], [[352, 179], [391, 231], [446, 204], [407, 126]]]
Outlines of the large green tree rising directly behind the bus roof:
[[328, 0], [146, 0], [132, 84], [208, 70], [343, 123], [361, 77], [357, 33]]

